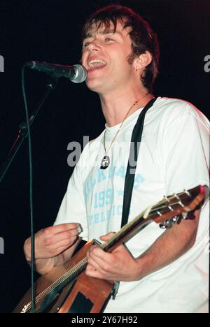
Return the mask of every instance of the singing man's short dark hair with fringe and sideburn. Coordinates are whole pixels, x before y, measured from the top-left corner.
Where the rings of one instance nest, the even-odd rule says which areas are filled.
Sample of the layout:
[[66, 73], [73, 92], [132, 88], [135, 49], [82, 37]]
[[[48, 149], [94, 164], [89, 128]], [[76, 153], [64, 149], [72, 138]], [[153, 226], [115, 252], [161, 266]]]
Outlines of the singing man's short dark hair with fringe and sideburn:
[[158, 38], [148, 22], [135, 13], [134, 10], [117, 4], [99, 8], [83, 24], [82, 39], [87, 38], [93, 24], [96, 25], [98, 30], [102, 26], [105, 29], [109, 29], [112, 23], [115, 32], [118, 22], [123, 22], [124, 29], [126, 27], [132, 28], [130, 31], [132, 54], [128, 58], [129, 63], [132, 64], [135, 57], [146, 51], [150, 52], [153, 57], [151, 64], [146, 66], [144, 73], [141, 75], [141, 82], [151, 92], [153, 90], [153, 82], [158, 75], [160, 57]]

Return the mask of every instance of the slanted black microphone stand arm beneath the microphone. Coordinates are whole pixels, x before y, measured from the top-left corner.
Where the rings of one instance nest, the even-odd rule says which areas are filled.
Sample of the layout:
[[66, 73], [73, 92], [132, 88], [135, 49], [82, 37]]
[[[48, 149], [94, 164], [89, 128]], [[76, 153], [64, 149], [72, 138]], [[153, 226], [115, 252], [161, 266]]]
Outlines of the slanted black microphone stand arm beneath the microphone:
[[[31, 117], [29, 118], [30, 126], [34, 122], [36, 115], [38, 114], [39, 110], [43, 106], [43, 103], [45, 102], [45, 100], [48, 98], [50, 92], [53, 89], [55, 89], [56, 83], [57, 83], [56, 78], [51, 78], [50, 82], [47, 83], [47, 85], [46, 85], [47, 91], [43, 95], [41, 101], [38, 103], [36, 110], [34, 110]], [[27, 138], [27, 136], [28, 136], [27, 123], [22, 122], [19, 125], [18, 136], [15, 138], [13, 146], [11, 147], [10, 151], [8, 152], [6, 160], [3, 162], [3, 165], [0, 168], [0, 182], [3, 180], [3, 177], [6, 174], [6, 171], [8, 170], [8, 168], [10, 167], [10, 164], [12, 163], [13, 159], [15, 158], [15, 154], [17, 154], [18, 150], [20, 149], [20, 146], [22, 145], [25, 138]]]

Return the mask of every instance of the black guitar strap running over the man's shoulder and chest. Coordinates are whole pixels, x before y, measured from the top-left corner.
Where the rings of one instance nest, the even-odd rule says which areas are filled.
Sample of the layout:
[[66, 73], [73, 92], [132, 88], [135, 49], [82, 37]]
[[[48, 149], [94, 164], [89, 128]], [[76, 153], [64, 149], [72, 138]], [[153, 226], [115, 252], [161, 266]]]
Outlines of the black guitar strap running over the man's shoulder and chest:
[[139, 156], [139, 146], [140, 146], [143, 126], [144, 126], [144, 117], [146, 115], [147, 110], [151, 108], [151, 106], [153, 106], [155, 100], [156, 100], [155, 98], [151, 99], [151, 101], [149, 101], [147, 105], [144, 107], [144, 109], [141, 111], [139, 118], [137, 120], [137, 124], [134, 126], [132, 132], [130, 154], [127, 163], [127, 172], [125, 175], [123, 215], [122, 215], [121, 227], [127, 224], [127, 220], [130, 214], [130, 203], [132, 199], [132, 190], [134, 186], [134, 178], [137, 168], [137, 159]]

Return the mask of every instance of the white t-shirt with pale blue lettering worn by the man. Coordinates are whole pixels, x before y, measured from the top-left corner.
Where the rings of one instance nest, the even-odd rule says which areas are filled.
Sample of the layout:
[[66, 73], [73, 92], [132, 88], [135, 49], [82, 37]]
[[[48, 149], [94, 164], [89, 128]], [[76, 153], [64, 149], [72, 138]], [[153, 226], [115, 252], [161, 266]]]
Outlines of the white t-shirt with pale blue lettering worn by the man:
[[[88, 143], [69, 180], [55, 224], [79, 222], [83, 238], [119, 231], [132, 130], [142, 108], [128, 117], [100, 169], [104, 132]], [[106, 126], [109, 148], [120, 125]], [[129, 221], [165, 195], [209, 186], [209, 121], [186, 101], [158, 98], [146, 113]], [[135, 282], [120, 282], [105, 312], [195, 312], [208, 298], [209, 205], [203, 205], [195, 245], [181, 258]], [[163, 233], [154, 222], [126, 243], [134, 257]], [[179, 242], [179, 240], [177, 240]]]

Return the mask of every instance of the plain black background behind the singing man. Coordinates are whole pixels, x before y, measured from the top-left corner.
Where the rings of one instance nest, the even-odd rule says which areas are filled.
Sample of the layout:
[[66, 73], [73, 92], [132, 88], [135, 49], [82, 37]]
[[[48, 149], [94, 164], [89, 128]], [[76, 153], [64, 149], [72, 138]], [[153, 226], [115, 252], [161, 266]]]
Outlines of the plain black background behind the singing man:
[[[80, 59], [80, 27], [99, 6], [117, 1], [1, 0], [0, 54], [0, 167], [25, 120], [21, 68], [26, 61], [76, 64]], [[132, 7], [158, 33], [160, 75], [155, 96], [185, 99], [209, 117], [210, 73], [204, 57], [210, 54], [209, 0], [118, 1]], [[47, 77], [27, 70], [29, 112], [45, 89]], [[61, 78], [32, 127], [34, 163], [35, 231], [55, 220], [72, 168], [67, 165], [67, 145], [95, 138], [104, 129], [97, 94], [85, 83], [75, 85]], [[11, 312], [30, 285], [30, 270], [22, 245], [29, 236], [29, 165], [27, 142], [0, 185], [0, 311]]]

